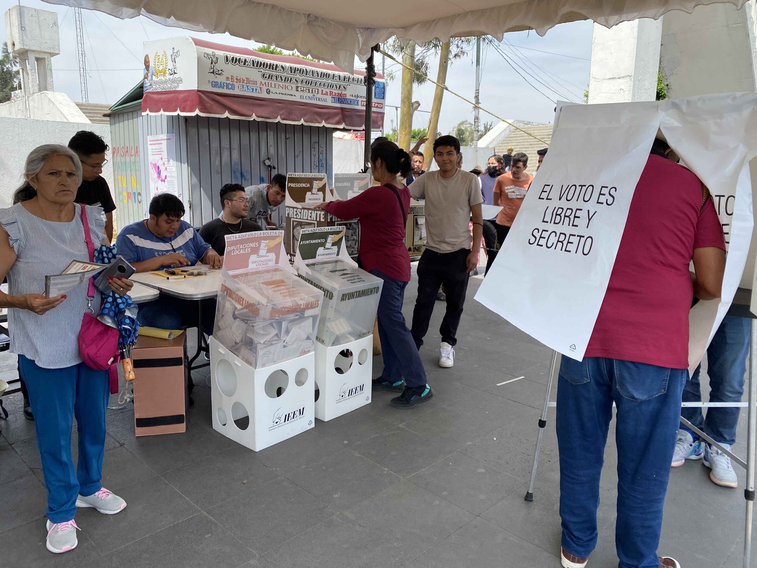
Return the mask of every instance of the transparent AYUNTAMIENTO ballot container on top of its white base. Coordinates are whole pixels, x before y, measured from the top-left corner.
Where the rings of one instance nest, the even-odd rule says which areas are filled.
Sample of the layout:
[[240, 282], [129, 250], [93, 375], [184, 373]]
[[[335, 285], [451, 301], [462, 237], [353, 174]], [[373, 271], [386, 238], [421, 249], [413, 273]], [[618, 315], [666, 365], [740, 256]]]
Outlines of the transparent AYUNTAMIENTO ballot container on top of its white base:
[[384, 281], [339, 258], [307, 268], [300, 277], [323, 291], [316, 340], [332, 347], [371, 335]]

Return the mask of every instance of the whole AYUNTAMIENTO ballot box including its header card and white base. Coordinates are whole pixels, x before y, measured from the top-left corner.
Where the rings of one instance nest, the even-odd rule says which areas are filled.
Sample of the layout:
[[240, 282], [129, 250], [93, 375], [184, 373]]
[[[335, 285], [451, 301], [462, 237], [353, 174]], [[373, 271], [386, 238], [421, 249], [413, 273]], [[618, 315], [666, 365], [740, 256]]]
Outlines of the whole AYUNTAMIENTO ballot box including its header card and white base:
[[316, 328], [316, 418], [332, 420], [371, 401], [373, 323], [384, 281], [357, 267], [345, 227], [302, 229], [294, 267], [323, 292]]

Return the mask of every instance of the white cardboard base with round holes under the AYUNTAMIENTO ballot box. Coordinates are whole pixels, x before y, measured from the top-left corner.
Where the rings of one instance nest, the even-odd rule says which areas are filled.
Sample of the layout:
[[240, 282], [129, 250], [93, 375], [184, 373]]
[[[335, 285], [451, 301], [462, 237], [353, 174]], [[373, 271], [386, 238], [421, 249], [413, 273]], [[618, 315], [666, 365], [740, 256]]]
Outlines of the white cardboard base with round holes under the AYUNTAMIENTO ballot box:
[[[333, 347], [316, 342], [316, 418], [327, 421], [371, 401], [373, 335]], [[351, 355], [344, 357], [343, 351]]]

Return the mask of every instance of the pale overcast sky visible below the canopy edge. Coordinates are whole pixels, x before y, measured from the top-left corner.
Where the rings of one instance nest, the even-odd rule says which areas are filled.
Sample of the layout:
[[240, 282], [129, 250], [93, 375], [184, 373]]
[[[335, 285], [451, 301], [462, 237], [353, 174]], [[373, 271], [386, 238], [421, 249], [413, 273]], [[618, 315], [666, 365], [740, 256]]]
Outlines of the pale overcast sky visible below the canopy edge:
[[[21, 3], [58, 13], [61, 55], [52, 59], [55, 90], [67, 93], [74, 101], [80, 101], [73, 9], [46, 4], [39, 0], [22, 0]], [[3, 14], [15, 4], [17, 2], [11, 0], [0, 0]], [[183, 35], [179, 28], [165, 27], [145, 17], [119, 20], [101, 12], [85, 10], [83, 21], [89, 69], [89, 101], [111, 105], [126, 94], [142, 76], [142, 42]], [[493, 47], [482, 48], [481, 106], [506, 119], [551, 122], [554, 100], [568, 98], [576, 102], [581, 101], [589, 82], [591, 31], [592, 23], [583, 21], [564, 23], [550, 30], [544, 37], [537, 36], [534, 32], [507, 34], [505, 40], [510, 45], [503, 42], [501, 49], [522, 76], [519, 76], [506, 58]], [[257, 45], [228, 34], [192, 33], [192, 36], [228, 45]], [[0, 37], [5, 41], [5, 26], [0, 27]], [[381, 56], [377, 57], [377, 64], [380, 71]], [[388, 83], [387, 105], [399, 105], [401, 68], [388, 60], [387, 68], [394, 70], [397, 77]], [[428, 73], [431, 78], [436, 78], [436, 60], [431, 61]], [[472, 50], [468, 56], [450, 64], [447, 86], [472, 100], [474, 83], [475, 50]], [[415, 87], [413, 100], [420, 101], [421, 111], [430, 110], [434, 89], [430, 83]], [[388, 131], [391, 130], [391, 120], [395, 120], [396, 125], [396, 116], [394, 108], [388, 107], [386, 111], [385, 129]], [[473, 120], [471, 106], [445, 93], [439, 130], [447, 133], [460, 120]], [[481, 113], [482, 123], [490, 120], [494, 123], [499, 122]], [[413, 126], [428, 126], [428, 114], [416, 112]]]

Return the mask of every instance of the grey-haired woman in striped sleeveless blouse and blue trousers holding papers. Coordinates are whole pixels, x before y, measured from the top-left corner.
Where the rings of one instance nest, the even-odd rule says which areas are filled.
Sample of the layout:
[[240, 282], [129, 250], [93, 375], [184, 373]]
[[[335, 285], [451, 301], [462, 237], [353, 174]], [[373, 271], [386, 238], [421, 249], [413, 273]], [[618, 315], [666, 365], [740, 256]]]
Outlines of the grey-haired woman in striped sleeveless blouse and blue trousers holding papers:
[[[76, 548], [76, 507], [101, 513], [123, 510], [123, 499], [100, 485], [105, 442], [105, 410], [110, 395], [107, 370], [95, 371], [79, 356], [78, 337], [88, 307], [87, 282], [67, 294], [45, 298], [45, 276], [61, 273], [71, 261], [89, 261], [85, 242], [107, 243], [101, 208], [74, 204], [82, 165], [64, 145], [35, 148], [26, 158], [24, 182], [12, 207], [0, 209], [0, 280], [8, 276], [11, 348], [29, 390], [36, 438], [48, 489], [47, 548]], [[128, 279], [111, 279], [125, 295]], [[99, 295], [92, 310], [98, 313]], [[71, 427], [76, 414], [79, 464], [71, 457]]]

